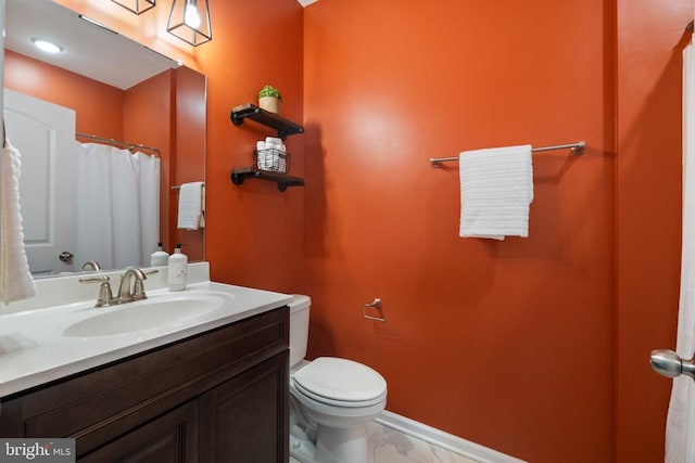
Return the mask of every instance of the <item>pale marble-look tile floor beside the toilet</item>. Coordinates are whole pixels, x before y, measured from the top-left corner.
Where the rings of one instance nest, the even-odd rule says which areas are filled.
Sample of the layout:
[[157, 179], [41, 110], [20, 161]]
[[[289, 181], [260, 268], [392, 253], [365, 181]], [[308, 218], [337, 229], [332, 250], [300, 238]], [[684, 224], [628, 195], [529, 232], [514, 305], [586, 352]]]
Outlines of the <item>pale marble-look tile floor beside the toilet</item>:
[[[478, 463], [374, 422], [367, 436], [369, 454], [364, 463]], [[301, 462], [290, 456], [290, 463]]]

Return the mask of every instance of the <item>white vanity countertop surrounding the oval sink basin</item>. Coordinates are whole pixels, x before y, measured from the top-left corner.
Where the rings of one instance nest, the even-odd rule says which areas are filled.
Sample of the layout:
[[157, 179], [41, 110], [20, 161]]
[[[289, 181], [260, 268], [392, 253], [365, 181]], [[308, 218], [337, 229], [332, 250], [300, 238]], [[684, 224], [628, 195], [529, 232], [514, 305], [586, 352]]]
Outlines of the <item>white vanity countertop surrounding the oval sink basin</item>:
[[[276, 309], [292, 300], [287, 294], [210, 281], [191, 283], [184, 292], [150, 290], [146, 282], [147, 301], [94, 308], [98, 285], [89, 286], [93, 293], [89, 300], [0, 314], [0, 398]], [[185, 323], [164, 322], [147, 330], [101, 336], [66, 335], [68, 327], [94, 314], [123, 309], [137, 313], [138, 305], [147, 310], [144, 304], [157, 298], [211, 295], [224, 298], [227, 304], [189, 318]]]

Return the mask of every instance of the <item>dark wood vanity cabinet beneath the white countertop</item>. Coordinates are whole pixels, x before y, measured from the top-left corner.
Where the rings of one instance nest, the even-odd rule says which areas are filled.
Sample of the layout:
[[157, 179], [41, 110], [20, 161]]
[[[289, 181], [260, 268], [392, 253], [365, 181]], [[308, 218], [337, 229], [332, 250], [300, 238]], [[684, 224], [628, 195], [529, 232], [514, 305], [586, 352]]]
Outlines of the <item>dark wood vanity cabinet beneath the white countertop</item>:
[[289, 309], [1, 399], [0, 436], [73, 437], [84, 462], [289, 460]]

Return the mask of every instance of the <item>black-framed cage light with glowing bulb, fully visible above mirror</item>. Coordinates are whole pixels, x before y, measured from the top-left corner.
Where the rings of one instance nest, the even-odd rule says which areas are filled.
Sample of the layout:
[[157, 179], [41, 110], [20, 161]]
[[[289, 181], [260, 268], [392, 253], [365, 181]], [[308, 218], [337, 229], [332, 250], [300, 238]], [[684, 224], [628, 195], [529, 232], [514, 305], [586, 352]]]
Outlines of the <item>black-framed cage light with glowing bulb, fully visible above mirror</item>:
[[212, 40], [207, 0], [174, 0], [166, 30], [193, 47]]

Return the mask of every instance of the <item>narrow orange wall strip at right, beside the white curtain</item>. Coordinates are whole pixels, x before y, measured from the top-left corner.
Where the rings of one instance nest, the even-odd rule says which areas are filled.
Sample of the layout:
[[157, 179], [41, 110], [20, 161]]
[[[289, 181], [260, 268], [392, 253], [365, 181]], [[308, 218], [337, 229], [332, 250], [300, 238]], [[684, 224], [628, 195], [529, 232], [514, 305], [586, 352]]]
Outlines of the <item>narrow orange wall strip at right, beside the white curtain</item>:
[[[618, 1], [618, 462], [664, 461], [681, 252], [681, 52], [692, 0]], [[687, 35], [690, 38], [690, 34]]]

